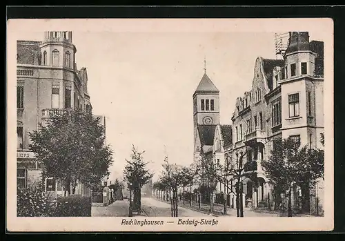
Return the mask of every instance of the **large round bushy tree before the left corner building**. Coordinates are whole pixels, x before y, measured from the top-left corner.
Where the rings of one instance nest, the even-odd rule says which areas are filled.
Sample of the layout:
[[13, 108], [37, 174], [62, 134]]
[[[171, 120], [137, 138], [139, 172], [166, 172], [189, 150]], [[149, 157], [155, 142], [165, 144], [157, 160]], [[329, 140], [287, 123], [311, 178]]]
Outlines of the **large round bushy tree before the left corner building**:
[[108, 174], [112, 150], [105, 144], [105, 127], [91, 112], [64, 110], [29, 136], [30, 149], [43, 164], [43, 180], [54, 177], [69, 194], [78, 183], [94, 187]]

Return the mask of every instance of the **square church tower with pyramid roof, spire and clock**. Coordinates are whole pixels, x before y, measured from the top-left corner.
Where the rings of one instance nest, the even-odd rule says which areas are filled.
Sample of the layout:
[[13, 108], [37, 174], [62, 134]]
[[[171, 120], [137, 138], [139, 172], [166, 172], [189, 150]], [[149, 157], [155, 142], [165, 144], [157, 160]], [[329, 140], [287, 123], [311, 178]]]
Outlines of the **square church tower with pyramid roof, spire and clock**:
[[[206, 61], [205, 61], [206, 63]], [[215, 128], [219, 124], [219, 90], [205, 73], [193, 94], [194, 157], [212, 151]]]

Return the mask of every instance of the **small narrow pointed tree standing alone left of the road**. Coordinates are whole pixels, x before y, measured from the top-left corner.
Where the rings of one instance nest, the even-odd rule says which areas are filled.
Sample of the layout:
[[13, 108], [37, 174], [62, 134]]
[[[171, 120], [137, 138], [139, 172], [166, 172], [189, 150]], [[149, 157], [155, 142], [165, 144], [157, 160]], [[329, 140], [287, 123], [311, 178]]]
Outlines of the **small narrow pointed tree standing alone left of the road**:
[[131, 160], [126, 160], [127, 164], [124, 168], [124, 181], [131, 186], [133, 191], [133, 209], [139, 212], [141, 211], [141, 187], [153, 176], [153, 173], [146, 168], [148, 162], [144, 162], [144, 153], [145, 151], [139, 152], [132, 145]]

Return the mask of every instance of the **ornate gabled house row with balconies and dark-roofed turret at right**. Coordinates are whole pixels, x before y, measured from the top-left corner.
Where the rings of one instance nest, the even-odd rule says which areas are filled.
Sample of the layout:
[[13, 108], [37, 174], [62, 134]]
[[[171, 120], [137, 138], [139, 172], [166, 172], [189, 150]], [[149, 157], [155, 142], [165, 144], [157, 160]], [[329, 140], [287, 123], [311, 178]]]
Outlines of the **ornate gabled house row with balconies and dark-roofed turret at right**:
[[[273, 186], [261, 162], [270, 157], [276, 139], [291, 137], [302, 146], [322, 148], [323, 58], [323, 42], [309, 41], [308, 32], [289, 32], [283, 59], [256, 59], [252, 89], [237, 98], [229, 150], [233, 162], [255, 162], [244, 170], [250, 177], [244, 181], [246, 206], [273, 208]], [[322, 200], [322, 180], [293, 191], [293, 208], [313, 215], [323, 214]]]

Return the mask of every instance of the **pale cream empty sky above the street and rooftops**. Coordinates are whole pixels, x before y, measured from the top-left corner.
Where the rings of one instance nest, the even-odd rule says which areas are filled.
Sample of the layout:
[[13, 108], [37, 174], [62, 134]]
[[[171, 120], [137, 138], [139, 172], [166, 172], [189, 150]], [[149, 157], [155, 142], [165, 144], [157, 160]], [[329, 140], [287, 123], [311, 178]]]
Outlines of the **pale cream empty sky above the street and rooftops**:
[[[311, 40], [322, 40], [309, 32]], [[21, 40], [43, 40], [22, 32]], [[114, 151], [110, 179], [122, 178], [132, 144], [159, 176], [169, 162], [193, 162], [193, 93], [206, 73], [219, 89], [220, 122], [231, 124], [236, 98], [250, 90], [255, 59], [275, 59], [273, 32], [74, 31], [77, 67], [87, 68], [95, 115], [106, 116]]]

